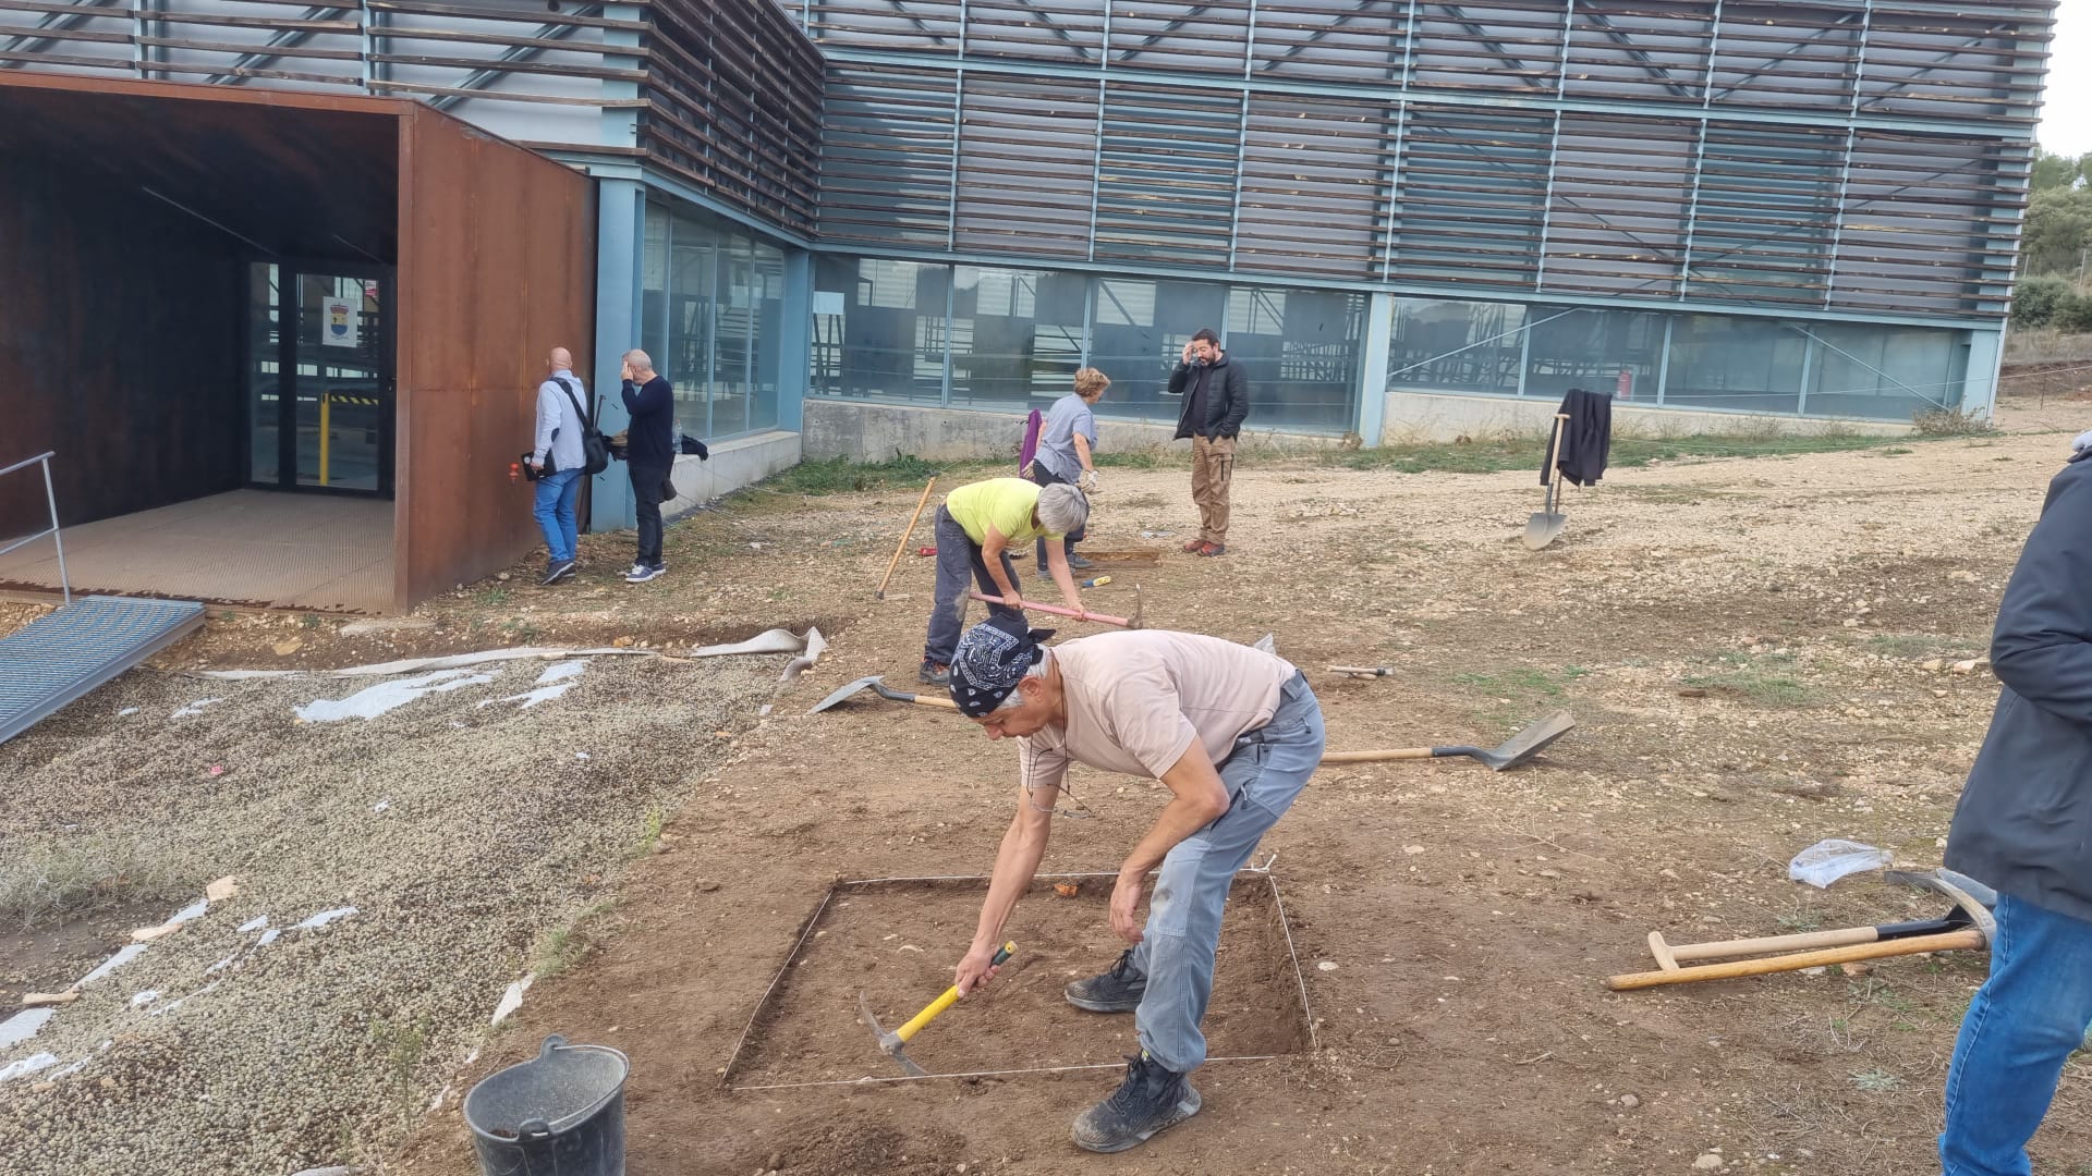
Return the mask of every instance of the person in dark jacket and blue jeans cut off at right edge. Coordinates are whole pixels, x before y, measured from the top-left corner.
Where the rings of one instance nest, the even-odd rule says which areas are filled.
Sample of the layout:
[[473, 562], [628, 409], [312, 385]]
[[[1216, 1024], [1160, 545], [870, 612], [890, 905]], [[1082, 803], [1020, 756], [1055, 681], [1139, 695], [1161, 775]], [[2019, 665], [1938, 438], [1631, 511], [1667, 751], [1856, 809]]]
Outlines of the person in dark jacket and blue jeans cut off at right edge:
[[1998, 891], [1989, 979], [1948, 1065], [1946, 1176], [2027, 1176], [2027, 1140], [2092, 1025], [2092, 450], [2048, 483], [2004, 586], [2004, 682], [1946, 864]]

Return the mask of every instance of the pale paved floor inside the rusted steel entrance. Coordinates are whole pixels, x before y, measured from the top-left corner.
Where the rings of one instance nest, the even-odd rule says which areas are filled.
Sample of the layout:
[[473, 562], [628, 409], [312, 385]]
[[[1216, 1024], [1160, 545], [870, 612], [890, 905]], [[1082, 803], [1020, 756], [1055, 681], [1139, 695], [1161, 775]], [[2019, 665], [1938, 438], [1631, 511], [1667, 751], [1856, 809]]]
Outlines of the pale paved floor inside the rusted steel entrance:
[[[234, 490], [65, 527], [73, 592], [383, 613], [393, 594], [393, 504]], [[0, 586], [59, 588], [50, 540], [0, 555]]]

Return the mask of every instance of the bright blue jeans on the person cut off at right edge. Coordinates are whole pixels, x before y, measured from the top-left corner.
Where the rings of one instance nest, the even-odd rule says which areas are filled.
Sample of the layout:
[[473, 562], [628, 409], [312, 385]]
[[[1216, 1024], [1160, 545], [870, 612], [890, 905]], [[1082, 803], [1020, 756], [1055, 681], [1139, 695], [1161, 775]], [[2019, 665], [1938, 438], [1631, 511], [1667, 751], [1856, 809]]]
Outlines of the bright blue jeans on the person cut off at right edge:
[[1948, 1065], [1946, 1176], [2027, 1176], [2027, 1140], [2092, 1025], [2092, 923], [1998, 896], [1989, 979]]

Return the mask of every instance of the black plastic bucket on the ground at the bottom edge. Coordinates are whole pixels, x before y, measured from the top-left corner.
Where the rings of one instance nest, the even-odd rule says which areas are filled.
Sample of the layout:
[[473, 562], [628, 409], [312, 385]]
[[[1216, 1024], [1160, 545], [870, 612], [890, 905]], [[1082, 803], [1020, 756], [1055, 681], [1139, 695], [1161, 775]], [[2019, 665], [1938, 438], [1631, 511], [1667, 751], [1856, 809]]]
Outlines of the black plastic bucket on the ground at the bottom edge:
[[485, 1176], [623, 1176], [626, 1076], [609, 1046], [550, 1036], [538, 1057], [490, 1073], [464, 1096]]

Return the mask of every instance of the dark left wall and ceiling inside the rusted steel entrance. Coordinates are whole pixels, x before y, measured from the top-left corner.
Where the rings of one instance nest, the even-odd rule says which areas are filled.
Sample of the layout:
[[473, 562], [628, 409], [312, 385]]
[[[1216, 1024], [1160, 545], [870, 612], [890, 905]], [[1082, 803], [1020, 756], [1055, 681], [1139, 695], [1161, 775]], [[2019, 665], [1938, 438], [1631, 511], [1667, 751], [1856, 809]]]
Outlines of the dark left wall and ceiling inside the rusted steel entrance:
[[0, 73], [0, 460], [56, 450], [67, 525], [245, 485], [247, 262], [389, 259], [406, 109]]

